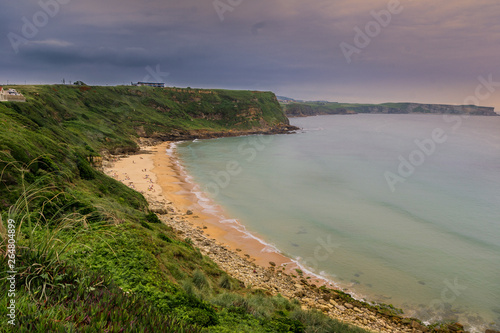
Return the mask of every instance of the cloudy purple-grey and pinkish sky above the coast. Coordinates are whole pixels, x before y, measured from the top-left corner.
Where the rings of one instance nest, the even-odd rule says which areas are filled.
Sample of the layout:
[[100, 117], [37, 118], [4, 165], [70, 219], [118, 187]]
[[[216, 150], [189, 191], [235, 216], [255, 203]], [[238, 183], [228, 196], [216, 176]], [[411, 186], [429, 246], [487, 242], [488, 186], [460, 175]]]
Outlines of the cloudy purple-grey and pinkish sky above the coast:
[[498, 0], [2, 1], [0, 84], [493, 106]]

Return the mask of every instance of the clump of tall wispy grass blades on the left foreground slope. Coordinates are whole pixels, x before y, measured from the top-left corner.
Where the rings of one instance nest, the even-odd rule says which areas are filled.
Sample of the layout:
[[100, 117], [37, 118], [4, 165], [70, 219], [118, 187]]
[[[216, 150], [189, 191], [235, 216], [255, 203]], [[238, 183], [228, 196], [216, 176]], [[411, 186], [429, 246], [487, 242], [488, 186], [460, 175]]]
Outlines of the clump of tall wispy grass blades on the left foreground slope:
[[[58, 273], [65, 270], [62, 255], [82, 234], [96, 231], [79, 212], [65, 213], [67, 207], [58, 207], [48, 216], [46, 207], [53, 206], [57, 198], [66, 195], [51, 183], [50, 174], [33, 183], [26, 181], [30, 167], [8, 163], [4, 172], [19, 173], [21, 195], [7, 213], [8, 220], [16, 224], [17, 278], [32, 295], [47, 298], [47, 290], [61, 280]], [[10, 169], [10, 170], [9, 170]], [[5, 228], [5, 227], [4, 227]], [[7, 253], [7, 237], [1, 233], [0, 254]]]

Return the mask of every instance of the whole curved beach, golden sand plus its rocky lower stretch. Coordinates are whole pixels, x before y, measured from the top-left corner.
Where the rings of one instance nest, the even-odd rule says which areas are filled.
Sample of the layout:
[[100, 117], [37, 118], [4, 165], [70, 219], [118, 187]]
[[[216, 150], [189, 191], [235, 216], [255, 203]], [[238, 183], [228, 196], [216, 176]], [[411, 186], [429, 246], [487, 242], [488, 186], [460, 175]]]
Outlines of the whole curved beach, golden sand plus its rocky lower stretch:
[[[245, 287], [297, 298], [303, 308], [318, 309], [332, 318], [374, 332], [429, 331], [415, 319], [387, 313], [353, 299], [338, 291], [332, 281], [323, 278], [320, 283], [318, 276], [307, 272], [293, 277], [292, 274], [297, 274], [296, 268], [303, 270], [293, 259], [274, 247], [266, 251], [271, 245], [246, 231], [241, 224], [237, 224], [238, 230], [230, 223], [223, 223], [221, 207], [209, 211], [200, 205], [200, 197], [195, 193], [199, 189], [186, 179], [188, 175], [171, 149], [173, 144], [169, 141], [143, 145], [137, 154], [115, 159], [104, 168], [105, 173], [142, 193], [150, 209], [181, 239], [190, 238], [202, 254], [242, 281]], [[334, 289], [318, 288], [326, 284]]]

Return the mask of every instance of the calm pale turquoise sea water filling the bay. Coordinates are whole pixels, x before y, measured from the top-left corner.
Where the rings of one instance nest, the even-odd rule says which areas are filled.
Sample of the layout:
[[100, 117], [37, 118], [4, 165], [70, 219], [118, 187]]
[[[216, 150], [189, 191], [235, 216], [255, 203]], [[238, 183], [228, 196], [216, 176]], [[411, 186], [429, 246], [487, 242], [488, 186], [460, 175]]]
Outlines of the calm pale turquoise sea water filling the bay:
[[500, 117], [292, 124], [177, 152], [227, 215], [357, 297], [500, 328]]

